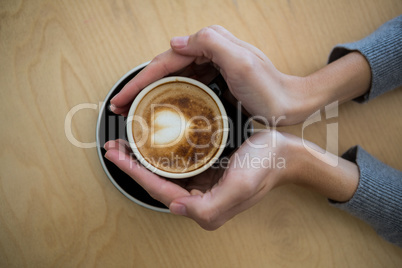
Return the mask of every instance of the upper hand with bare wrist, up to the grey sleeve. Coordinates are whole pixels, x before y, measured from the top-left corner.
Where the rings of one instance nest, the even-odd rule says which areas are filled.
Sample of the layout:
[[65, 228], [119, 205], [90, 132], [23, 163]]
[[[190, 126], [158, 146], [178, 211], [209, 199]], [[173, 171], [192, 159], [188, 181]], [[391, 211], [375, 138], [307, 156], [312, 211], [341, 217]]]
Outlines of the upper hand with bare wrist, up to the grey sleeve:
[[259, 49], [221, 26], [175, 37], [170, 45], [111, 100], [113, 112], [127, 115], [139, 91], [172, 74], [208, 83], [220, 72], [244, 108], [273, 126], [300, 123], [325, 105], [346, 102], [370, 88], [370, 66], [359, 52], [307, 77], [296, 77], [279, 72]]

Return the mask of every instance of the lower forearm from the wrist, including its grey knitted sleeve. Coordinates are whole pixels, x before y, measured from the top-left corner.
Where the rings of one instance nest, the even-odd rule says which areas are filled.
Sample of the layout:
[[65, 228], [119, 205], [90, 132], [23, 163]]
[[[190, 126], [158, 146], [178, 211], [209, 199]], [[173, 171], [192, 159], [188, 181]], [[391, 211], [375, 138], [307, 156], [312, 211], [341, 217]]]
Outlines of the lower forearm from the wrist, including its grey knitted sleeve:
[[[367, 222], [386, 240], [402, 246], [402, 172], [360, 147], [340, 158], [313, 143], [283, 135], [289, 141], [285, 150], [287, 168], [280, 173], [276, 186], [293, 183], [316, 191], [333, 206]], [[337, 165], [333, 165], [334, 157]]]

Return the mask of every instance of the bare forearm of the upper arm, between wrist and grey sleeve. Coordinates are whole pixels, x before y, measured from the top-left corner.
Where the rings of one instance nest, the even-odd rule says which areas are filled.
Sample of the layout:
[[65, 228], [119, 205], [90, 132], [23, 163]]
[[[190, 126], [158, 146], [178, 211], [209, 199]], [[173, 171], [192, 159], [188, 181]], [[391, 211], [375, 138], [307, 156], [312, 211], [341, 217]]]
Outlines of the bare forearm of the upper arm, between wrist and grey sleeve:
[[286, 120], [281, 123], [290, 125], [303, 122], [330, 103], [364, 95], [370, 88], [371, 71], [364, 56], [352, 52], [306, 77], [279, 77], [288, 96], [283, 104]]

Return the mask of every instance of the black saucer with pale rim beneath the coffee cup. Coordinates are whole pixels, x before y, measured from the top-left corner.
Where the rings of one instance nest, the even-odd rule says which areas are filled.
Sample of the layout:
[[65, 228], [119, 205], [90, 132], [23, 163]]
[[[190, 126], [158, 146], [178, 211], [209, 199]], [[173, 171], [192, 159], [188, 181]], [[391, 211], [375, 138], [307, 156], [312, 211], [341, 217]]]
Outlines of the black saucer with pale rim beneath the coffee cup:
[[[159, 201], [153, 199], [139, 184], [137, 184], [130, 176], [121, 171], [117, 166], [105, 158], [106, 150], [103, 145], [108, 140], [124, 139], [127, 140], [126, 134], [126, 118], [121, 115], [112, 113], [109, 109], [110, 100], [120, 92], [125, 84], [135, 77], [149, 62], [138, 65], [128, 73], [126, 73], [112, 87], [107, 94], [103, 104], [99, 110], [98, 122], [96, 125], [96, 146], [99, 160], [110, 182], [128, 199], [136, 204], [148, 209], [159, 212], [169, 212], [169, 209]], [[246, 131], [244, 124], [248, 122], [248, 117], [241, 113], [240, 109], [229, 103], [222, 96], [228, 90], [228, 86], [222, 76], [218, 76], [209, 85], [215, 94], [218, 95], [225, 107], [226, 113], [231, 120], [229, 139], [222, 157], [229, 157], [248, 137], [252, 135], [253, 126], [249, 122]], [[241, 107], [238, 105], [239, 108]]]

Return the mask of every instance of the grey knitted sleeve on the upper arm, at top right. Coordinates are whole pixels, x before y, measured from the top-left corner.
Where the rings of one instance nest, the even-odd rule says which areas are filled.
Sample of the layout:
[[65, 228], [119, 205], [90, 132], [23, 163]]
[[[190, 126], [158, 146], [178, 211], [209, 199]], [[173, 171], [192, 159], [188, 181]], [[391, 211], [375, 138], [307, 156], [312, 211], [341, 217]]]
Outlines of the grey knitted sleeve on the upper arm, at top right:
[[398, 16], [366, 38], [337, 45], [329, 56], [331, 63], [351, 51], [359, 51], [371, 68], [371, 87], [357, 102], [367, 102], [402, 85], [402, 15]]

